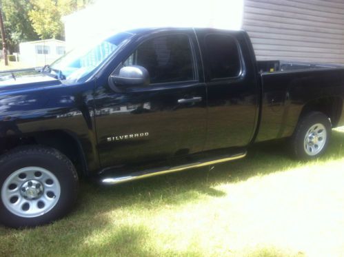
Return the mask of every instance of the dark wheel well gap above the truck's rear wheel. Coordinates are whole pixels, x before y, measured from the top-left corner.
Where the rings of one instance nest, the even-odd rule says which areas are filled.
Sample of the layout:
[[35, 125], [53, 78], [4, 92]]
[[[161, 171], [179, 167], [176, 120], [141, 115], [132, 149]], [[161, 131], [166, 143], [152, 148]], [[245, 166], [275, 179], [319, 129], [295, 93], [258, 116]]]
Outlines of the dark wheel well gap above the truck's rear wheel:
[[303, 106], [300, 118], [310, 112], [323, 112], [330, 118], [332, 127], [338, 125], [341, 118], [343, 108], [343, 99], [339, 97], [325, 97], [321, 99], [312, 100]]

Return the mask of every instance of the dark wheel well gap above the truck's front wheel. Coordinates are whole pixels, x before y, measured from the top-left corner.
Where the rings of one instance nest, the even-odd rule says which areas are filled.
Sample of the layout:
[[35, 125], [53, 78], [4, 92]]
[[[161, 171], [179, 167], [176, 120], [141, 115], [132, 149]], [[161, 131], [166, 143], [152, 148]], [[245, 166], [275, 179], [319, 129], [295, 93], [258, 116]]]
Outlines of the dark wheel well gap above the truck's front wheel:
[[74, 164], [79, 177], [86, 174], [88, 168], [83, 155], [82, 147], [74, 136], [61, 130], [39, 132], [35, 134], [25, 134], [9, 136], [2, 141], [1, 153], [12, 150], [19, 145], [44, 145], [59, 150]]

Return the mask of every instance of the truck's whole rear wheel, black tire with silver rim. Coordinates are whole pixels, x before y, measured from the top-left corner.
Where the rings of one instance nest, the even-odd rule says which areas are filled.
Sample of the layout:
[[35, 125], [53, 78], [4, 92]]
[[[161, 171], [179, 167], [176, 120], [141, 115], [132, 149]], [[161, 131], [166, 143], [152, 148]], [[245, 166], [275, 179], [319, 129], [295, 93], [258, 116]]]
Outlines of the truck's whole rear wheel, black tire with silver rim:
[[[317, 127], [318, 124], [320, 125]], [[322, 112], [310, 112], [301, 117], [291, 138], [290, 148], [294, 158], [307, 160], [321, 156], [330, 142], [331, 127], [330, 119]]]

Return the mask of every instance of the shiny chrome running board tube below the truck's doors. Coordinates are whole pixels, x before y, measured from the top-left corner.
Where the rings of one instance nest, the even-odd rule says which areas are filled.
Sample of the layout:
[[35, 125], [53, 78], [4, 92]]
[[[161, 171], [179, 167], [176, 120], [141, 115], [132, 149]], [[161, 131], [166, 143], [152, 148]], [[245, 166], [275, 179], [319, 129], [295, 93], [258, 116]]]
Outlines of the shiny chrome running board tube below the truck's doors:
[[137, 179], [141, 179], [141, 178], [149, 178], [150, 176], [157, 176], [157, 175], [168, 174], [172, 172], [181, 172], [182, 170], [185, 170], [185, 169], [192, 169], [195, 167], [203, 167], [207, 165], [213, 165], [216, 163], [234, 161], [234, 160], [243, 158], [245, 156], [246, 156], [246, 152], [241, 153], [241, 154], [235, 154], [232, 156], [227, 156], [225, 158], [219, 158], [212, 161], [203, 161], [203, 162], [200, 161], [197, 163], [190, 163], [187, 165], [170, 167], [168, 169], [161, 169], [161, 170], [156, 169], [154, 171], [135, 172], [135, 173], [129, 174], [128, 176], [114, 176], [114, 177], [101, 178], [100, 182], [103, 185], [116, 185], [116, 184], [124, 183], [128, 181], [136, 181]]

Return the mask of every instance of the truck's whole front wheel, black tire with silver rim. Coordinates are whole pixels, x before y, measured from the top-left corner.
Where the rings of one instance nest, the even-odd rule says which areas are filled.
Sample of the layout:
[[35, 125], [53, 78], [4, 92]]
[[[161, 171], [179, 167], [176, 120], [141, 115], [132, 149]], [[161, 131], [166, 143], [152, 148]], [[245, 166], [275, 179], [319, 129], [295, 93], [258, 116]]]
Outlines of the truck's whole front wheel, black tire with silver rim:
[[[23, 175], [19, 174], [19, 170], [24, 171], [22, 172]], [[46, 175], [43, 172], [43, 175], [40, 175], [41, 172], [34, 173], [34, 170], [43, 170], [49, 173]], [[17, 176], [17, 174], [28, 176], [23, 179]], [[35, 176], [40, 176], [41, 178], [36, 178]], [[54, 181], [49, 176], [52, 176]], [[36, 184], [32, 185], [32, 181]], [[8, 183], [12, 184], [8, 186]], [[24, 183], [26, 183], [27, 188], [30, 185], [30, 188], [23, 188]], [[41, 185], [37, 185], [37, 183], [41, 183]], [[10, 191], [12, 187], [16, 187], [14, 193]], [[53, 192], [48, 191], [50, 190], [49, 187], [54, 188], [52, 189]], [[38, 145], [17, 147], [0, 158], [0, 192], [2, 194], [0, 197], [0, 223], [8, 227], [17, 228], [34, 227], [57, 220], [72, 209], [77, 200], [78, 187], [78, 175], [74, 165], [61, 152], [54, 148]], [[38, 194], [33, 191], [36, 195], [32, 194], [32, 190], [35, 190], [34, 188], [40, 188], [37, 191]], [[54, 190], [57, 193], [54, 193]], [[19, 200], [15, 203], [18, 204], [17, 207], [12, 207], [11, 205], [12, 198], [15, 201], [17, 197], [11, 194], [19, 196]], [[8, 198], [6, 197], [11, 198], [11, 200], [7, 200]], [[19, 206], [26, 204], [23, 201], [28, 203], [26, 207], [29, 206], [27, 214], [25, 212], [26, 207]], [[43, 208], [42, 210], [39, 209], [41, 207]], [[17, 211], [15, 208], [17, 208]], [[18, 215], [15, 212], [18, 212]], [[29, 214], [32, 216], [29, 216]]]

